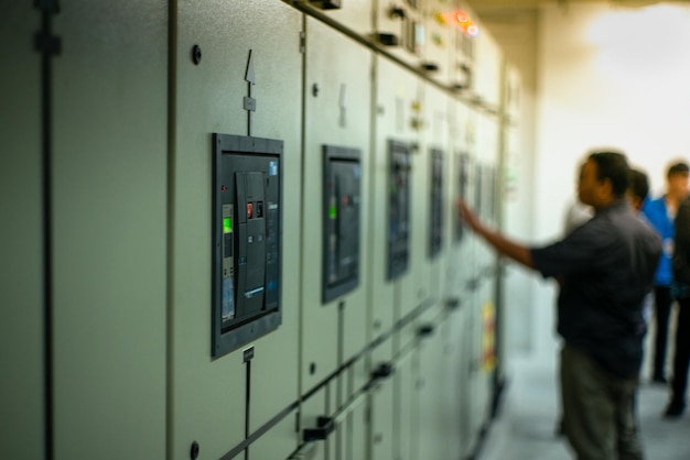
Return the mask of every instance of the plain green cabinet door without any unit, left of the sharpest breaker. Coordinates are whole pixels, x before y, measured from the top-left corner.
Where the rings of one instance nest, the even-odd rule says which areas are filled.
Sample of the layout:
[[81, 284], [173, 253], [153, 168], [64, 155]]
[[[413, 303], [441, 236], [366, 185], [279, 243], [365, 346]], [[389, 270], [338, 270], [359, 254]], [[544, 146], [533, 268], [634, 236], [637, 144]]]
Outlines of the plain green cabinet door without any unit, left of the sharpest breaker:
[[52, 75], [54, 453], [159, 459], [168, 2], [77, 0], [53, 23], [63, 44]]

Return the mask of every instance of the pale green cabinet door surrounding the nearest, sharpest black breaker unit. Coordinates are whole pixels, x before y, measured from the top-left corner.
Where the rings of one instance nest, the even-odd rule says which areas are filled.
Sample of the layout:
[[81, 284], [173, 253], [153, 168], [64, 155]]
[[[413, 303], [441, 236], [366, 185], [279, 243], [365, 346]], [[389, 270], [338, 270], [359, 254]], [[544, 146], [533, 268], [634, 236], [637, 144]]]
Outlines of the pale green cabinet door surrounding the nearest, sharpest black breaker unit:
[[[303, 15], [271, 0], [176, 4], [170, 443], [175, 459], [188, 458], [194, 441], [204, 458], [222, 458], [299, 397]], [[213, 133], [283, 145], [282, 322], [217, 359], [211, 357]], [[245, 351], [254, 353], [250, 363]], [[292, 434], [271, 432], [272, 451], [294, 450]]]

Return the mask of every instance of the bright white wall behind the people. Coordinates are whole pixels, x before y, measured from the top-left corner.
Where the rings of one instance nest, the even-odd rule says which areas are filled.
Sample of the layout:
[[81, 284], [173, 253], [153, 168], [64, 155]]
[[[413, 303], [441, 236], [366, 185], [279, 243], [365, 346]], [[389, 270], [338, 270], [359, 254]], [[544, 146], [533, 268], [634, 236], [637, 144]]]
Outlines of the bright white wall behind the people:
[[[690, 8], [556, 4], [539, 28], [533, 240], [562, 228], [587, 150], [625, 151], [664, 187], [669, 160], [690, 155]], [[553, 288], [535, 289], [537, 352], [552, 352]]]

